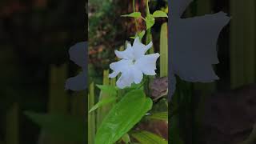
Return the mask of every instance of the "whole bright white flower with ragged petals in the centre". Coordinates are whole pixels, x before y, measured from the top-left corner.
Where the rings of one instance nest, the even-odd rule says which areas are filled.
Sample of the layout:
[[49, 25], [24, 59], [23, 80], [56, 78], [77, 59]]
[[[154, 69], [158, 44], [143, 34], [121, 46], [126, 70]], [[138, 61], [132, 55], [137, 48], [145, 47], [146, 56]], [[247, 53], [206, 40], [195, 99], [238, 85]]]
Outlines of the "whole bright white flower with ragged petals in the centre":
[[143, 74], [156, 74], [154, 70], [156, 70], [156, 61], [160, 54], [145, 55], [146, 51], [149, 50], [151, 46], [152, 42], [145, 46], [137, 37], [134, 40], [133, 46], [128, 43], [126, 50], [114, 51], [121, 60], [110, 64], [110, 69], [113, 70], [113, 73], [110, 74], [109, 77], [115, 78], [119, 73], [122, 73], [117, 81], [119, 88], [122, 89], [126, 86], [130, 86], [133, 82], [136, 84], [142, 82]]

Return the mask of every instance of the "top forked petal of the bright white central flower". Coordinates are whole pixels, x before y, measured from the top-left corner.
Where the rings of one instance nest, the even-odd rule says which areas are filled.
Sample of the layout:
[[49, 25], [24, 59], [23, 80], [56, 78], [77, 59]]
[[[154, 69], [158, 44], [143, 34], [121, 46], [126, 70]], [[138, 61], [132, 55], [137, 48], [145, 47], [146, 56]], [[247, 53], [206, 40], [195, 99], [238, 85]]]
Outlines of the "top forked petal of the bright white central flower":
[[153, 46], [153, 43], [150, 42], [148, 45], [144, 45], [139, 41], [139, 38], [135, 38], [133, 50], [134, 50], [134, 57], [135, 59], [141, 58], [143, 55], [145, 55], [146, 51], [150, 49], [150, 47]]

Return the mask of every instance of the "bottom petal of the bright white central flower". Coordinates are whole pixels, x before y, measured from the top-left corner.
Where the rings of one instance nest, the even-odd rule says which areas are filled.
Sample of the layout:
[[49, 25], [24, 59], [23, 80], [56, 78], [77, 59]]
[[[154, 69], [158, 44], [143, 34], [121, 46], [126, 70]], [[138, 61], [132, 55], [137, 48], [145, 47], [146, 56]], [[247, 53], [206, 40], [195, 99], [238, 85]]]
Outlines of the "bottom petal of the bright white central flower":
[[120, 78], [118, 78], [117, 86], [120, 89], [130, 86], [134, 82], [134, 75], [131, 70], [126, 70], [122, 72]]

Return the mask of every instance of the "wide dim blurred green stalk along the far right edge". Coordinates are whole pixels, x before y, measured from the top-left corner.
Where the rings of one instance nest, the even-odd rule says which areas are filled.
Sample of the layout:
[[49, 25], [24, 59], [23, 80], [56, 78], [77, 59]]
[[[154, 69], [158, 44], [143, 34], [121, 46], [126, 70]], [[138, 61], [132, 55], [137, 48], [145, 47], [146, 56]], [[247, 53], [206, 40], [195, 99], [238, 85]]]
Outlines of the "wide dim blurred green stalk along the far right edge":
[[230, 1], [231, 88], [255, 82], [255, 1]]

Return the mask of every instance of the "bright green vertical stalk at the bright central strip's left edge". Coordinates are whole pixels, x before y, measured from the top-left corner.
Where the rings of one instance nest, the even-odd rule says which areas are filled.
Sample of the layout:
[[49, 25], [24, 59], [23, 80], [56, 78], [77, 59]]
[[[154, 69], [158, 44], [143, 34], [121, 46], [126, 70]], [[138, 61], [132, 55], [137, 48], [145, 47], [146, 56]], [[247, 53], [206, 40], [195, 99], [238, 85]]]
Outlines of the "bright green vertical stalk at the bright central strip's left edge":
[[[94, 82], [90, 84], [88, 94], [88, 110], [94, 106]], [[88, 114], [88, 143], [93, 144], [95, 138], [96, 123], [94, 111]]]

